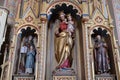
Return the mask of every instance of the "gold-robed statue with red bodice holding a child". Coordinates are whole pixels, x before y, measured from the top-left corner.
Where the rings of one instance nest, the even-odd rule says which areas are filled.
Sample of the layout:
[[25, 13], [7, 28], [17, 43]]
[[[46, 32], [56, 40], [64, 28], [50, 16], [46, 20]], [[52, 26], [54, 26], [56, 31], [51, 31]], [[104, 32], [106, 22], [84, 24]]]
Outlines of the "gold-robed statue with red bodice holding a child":
[[59, 13], [59, 23], [55, 31], [55, 57], [58, 62], [57, 69], [70, 68], [72, 65], [71, 51], [73, 47], [74, 22], [71, 15], [63, 11]]

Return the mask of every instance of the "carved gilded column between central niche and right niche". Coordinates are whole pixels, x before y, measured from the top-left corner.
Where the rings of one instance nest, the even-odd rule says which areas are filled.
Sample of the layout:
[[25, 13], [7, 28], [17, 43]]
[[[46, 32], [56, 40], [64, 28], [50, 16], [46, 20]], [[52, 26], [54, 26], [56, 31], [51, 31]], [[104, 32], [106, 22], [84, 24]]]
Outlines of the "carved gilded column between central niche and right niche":
[[90, 63], [90, 50], [89, 50], [89, 38], [88, 38], [88, 17], [83, 17], [82, 22], [82, 30], [83, 30], [83, 47], [84, 47], [84, 60], [85, 60], [85, 77], [86, 80], [93, 80], [92, 79], [92, 70], [91, 70], [91, 63]]

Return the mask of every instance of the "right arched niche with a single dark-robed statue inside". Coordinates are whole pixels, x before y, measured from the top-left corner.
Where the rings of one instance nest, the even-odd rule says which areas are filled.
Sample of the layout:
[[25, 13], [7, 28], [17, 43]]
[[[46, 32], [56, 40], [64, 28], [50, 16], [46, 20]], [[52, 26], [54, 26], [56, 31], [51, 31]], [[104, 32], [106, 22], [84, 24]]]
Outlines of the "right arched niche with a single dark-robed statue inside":
[[93, 40], [93, 55], [94, 55], [94, 68], [96, 75], [111, 75], [115, 74], [115, 64], [112, 53], [112, 44], [110, 35], [107, 30], [101, 28], [94, 29]]

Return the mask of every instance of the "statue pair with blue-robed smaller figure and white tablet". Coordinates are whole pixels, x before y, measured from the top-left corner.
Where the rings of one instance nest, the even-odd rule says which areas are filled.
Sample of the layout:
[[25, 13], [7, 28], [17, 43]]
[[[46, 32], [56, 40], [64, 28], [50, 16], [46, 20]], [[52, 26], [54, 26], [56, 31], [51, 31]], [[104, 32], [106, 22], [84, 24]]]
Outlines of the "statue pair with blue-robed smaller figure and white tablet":
[[34, 70], [35, 54], [36, 54], [37, 39], [32, 35], [25, 36], [21, 42], [20, 59], [19, 59], [19, 74], [31, 74]]

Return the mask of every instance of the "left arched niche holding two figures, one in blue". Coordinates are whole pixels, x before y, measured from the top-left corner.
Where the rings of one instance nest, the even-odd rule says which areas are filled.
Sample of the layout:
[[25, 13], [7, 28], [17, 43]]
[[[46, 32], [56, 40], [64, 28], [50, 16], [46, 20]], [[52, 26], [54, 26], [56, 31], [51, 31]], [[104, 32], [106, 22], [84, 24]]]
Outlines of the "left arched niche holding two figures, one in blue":
[[35, 72], [35, 55], [36, 55], [36, 44], [37, 34], [35, 29], [27, 27], [22, 29], [18, 35], [17, 45], [18, 51], [17, 56], [17, 74], [34, 74]]

